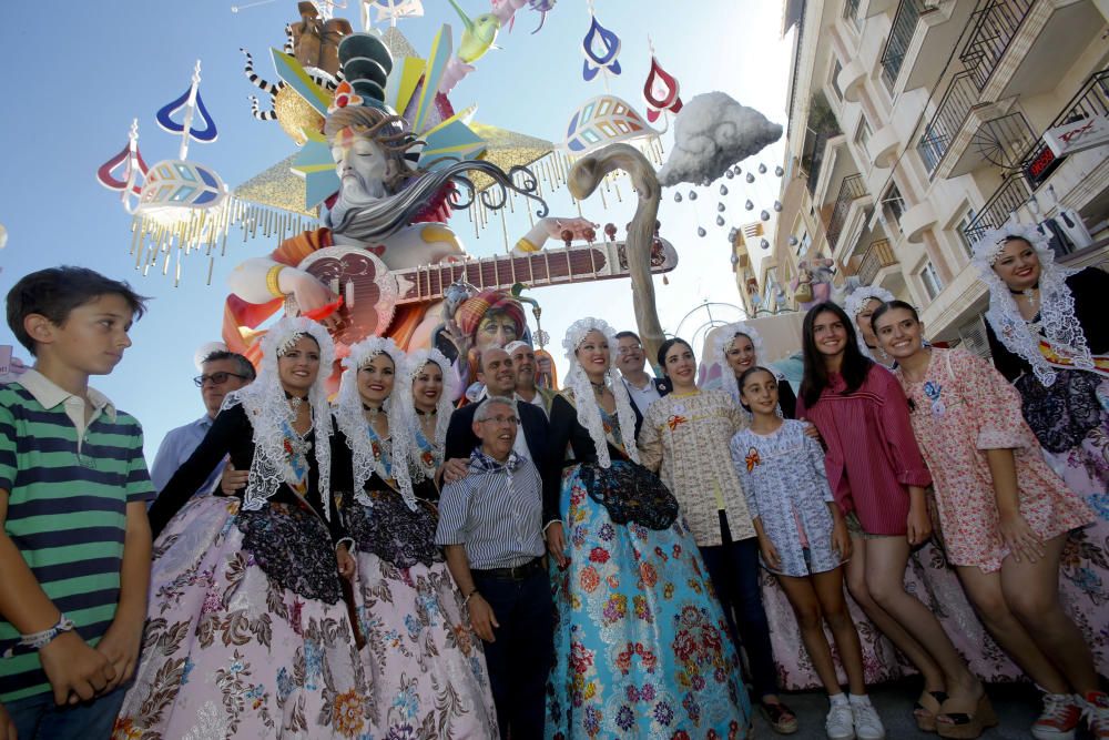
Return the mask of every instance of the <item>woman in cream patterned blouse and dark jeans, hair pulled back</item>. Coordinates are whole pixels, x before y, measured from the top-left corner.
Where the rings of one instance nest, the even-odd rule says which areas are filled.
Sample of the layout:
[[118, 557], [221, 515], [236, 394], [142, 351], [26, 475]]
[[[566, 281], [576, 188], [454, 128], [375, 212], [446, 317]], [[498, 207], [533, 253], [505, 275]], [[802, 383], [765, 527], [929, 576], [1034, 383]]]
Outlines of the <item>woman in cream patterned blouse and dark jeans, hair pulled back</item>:
[[747, 426], [750, 413], [723, 391], [698, 389], [696, 359], [684, 339], [663, 342], [658, 359], [673, 392], [648, 408], [640, 458], [678, 498], [736, 648], [746, 648], [763, 714], [776, 732], [795, 732], [797, 718], [777, 698], [770, 625], [759, 592], [759, 540], [729, 456], [732, 437]]

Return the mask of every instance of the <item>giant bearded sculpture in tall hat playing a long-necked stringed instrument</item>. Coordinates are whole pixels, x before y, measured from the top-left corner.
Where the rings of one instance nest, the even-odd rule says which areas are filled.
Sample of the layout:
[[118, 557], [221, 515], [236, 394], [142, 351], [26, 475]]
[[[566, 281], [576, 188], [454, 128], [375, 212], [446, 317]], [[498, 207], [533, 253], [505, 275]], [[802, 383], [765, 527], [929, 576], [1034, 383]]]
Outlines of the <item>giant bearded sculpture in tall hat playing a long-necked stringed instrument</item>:
[[[325, 323], [340, 357], [369, 334], [390, 336], [405, 348], [424, 347], [442, 323], [441, 302], [456, 283], [508, 290], [517, 282], [541, 285], [625, 272], [615, 244], [611, 252], [593, 246], [566, 250], [564, 260], [529, 259], [551, 236], [568, 243], [592, 240], [596, 224], [582, 217], [548, 216], [533, 192], [533, 178], [519, 169], [505, 172], [480, 160], [414, 166], [421, 142], [408, 122], [383, 102], [393, 69], [388, 49], [375, 36], [354, 33], [343, 39], [338, 54], [345, 82], [324, 124], [340, 180], [337, 200], [322, 229], [287, 239], [268, 256], [247, 260], [233, 271], [223, 327], [228, 347], [255, 357], [257, 330], [283, 308]], [[539, 219], [517, 241], [512, 255], [468, 260], [457, 234], [444, 222], [451, 210], [468, 206], [475, 197], [494, 204], [489, 190], [475, 192], [474, 174], [490, 178], [501, 202], [511, 191], [540, 205]], [[653, 224], [652, 215], [648, 252]], [[635, 249], [627, 255], [633, 275], [639, 262], [649, 261], [633, 254]], [[658, 270], [672, 268], [676, 262], [669, 249]], [[465, 358], [470, 346], [457, 334], [447, 336], [459, 339], [454, 354]], [[468, 379], [465, 364], [456, 372]]]

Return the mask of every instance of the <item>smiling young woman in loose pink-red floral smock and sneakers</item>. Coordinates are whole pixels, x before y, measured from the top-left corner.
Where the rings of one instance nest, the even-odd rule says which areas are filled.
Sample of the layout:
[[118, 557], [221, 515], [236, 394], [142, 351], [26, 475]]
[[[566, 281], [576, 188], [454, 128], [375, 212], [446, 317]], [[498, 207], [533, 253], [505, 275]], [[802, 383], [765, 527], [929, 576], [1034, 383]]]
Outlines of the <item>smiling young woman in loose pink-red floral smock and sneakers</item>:
[[1093, 513], [1048, 467], [1020, 396], [987, 361], [925, 347], [916, 310], [901, 301], [879, 307], [873, 321], [898, 363], [947, 558], [994, 638], [1046, 693], [1032, 734], [1072, 732], [1083, 697], [1095, 714], [1106, 706], [1109, 733], [1109, 701], [1090, 649], [1059, 601], [1067, 534]]

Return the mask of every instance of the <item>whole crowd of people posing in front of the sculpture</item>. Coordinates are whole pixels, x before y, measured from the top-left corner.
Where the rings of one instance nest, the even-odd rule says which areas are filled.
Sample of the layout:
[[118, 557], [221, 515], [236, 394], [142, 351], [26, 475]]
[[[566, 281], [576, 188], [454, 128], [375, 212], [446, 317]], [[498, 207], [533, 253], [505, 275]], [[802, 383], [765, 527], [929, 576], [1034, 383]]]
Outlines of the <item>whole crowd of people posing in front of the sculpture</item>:
[[[559, 385], [482, 295], [458, 358], [368, 337], [329, 398], [330, 335], [282, 318], [256, 369], [202, 357], [205, 415], [150, 474], [88, 384], [144, 298], [28, 275], [8, 323], [35, 366], [0, 386], [0, 740], [734, 739], [753, 709], [785, 734], [791, 660], [828, 738], [877, 740], [876, 633], [919, 673], [916, 724], [976, 738], [1000, 673], [971, 624], [1042, 690], [1034, 737], [1109, 739], [1109, 275], [1035, 229], [975, 264], [993, 365], [863, 288], [804, 316], [796, 393], [754, 324], [718, 332], [699, 385], [684, 339], [654, 377], [596, 317]], [[906, 587], [924, 546], [957, 619]]]

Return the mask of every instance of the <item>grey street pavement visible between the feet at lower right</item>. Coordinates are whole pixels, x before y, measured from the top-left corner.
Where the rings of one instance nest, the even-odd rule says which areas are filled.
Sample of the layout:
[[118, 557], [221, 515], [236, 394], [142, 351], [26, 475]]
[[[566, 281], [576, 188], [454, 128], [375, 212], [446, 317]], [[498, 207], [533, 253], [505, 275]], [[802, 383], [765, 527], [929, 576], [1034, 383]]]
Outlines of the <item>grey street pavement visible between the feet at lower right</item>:
[[[1028, 740], [1031, 734], [1028, 728], [1039, 714], [1039, 696], [1027, 685], [997, 683], [987, 687], [994, 709], [1001, 720], [1000, 726], [986, 731], [983, 740]], [[918, 692], [918, 683], [914, 679], [885, 683], [871, 691], [874, 706], [878, 708], [882, 721], [886, 726], [888, 740], [915, 740], [937, 736], [920, 732], [913, 720], [913, 702]], [[759, 740], [767, 738], [792, 737], [824, 738], [824, 716], [827, 712], [827, 699], [822, 692], [787, 693], [782, 697], [797, 712], [801, 729], [793, 736], [776, 736], [756, 714], [755, 737]]]

